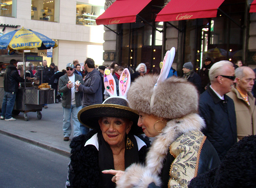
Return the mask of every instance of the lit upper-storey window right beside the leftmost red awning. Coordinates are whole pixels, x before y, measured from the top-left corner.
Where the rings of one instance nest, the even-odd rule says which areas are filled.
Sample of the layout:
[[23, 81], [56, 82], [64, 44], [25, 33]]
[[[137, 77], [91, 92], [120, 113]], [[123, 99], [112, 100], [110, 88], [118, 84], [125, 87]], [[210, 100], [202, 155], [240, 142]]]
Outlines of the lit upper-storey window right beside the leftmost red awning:
[[76, 24], [96, 25], [95, 19], [104, 12], [104, 7], [76, 3]]

